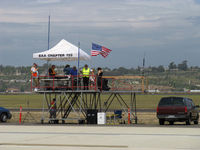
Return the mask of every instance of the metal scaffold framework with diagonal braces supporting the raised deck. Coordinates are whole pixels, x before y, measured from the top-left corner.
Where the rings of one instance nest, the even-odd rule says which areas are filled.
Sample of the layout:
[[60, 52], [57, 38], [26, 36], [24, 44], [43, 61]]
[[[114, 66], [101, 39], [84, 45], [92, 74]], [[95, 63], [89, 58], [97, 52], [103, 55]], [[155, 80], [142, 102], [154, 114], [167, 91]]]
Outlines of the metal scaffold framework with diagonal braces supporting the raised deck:
[[[122, 112], [121, 123], [136, 123], [136, 93], [134, 91], [38, 91], [43, 94], [41, 123], [90, 123], [88, 112], [103, 112], [109, 120], [118, 118], [116, 111]], [[55, 99], [56, 111], [51, 115], [51, 102]]]

